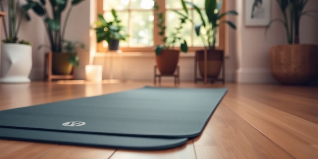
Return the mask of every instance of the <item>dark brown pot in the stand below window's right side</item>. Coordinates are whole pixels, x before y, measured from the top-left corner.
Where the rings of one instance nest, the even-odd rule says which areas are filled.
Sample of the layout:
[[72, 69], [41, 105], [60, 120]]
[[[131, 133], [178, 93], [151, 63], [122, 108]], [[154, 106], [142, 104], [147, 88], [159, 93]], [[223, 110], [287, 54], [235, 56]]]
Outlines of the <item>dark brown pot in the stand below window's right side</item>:
[[[199, 72], [204, 77], [204, 50], [196, 51], [198, 58]], [[222, 50], [208, 50], [207, 52], [207, 76], [217, 78], [220, 75], [223, 59]]]

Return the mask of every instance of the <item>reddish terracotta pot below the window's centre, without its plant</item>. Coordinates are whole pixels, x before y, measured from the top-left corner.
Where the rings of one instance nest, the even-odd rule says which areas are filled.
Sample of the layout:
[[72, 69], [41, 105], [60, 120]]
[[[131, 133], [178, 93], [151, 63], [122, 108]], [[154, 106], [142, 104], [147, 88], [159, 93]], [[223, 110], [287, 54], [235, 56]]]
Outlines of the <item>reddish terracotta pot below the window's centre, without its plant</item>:
[[162, 50], [160, 55], [156, 55], [158, 69], [162, 75], [175, 73], [179, 61], [179, 51]]

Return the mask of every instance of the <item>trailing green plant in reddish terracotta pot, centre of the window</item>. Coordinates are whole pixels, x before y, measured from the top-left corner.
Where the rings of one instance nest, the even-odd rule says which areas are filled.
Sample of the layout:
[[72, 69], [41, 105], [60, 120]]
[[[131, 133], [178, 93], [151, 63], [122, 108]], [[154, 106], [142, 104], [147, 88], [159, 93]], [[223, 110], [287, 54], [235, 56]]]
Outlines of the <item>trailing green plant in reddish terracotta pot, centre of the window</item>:
[[[185, 3], [181, 0], [183, 7]], [[179, 61], [179, 50], [175, 50], [175, 45], [177, 42], [180, 42], [180, 50], [182, 52], [188, 51], [187, 42], [180, 36], [180, 31], [183, 28], [183, 24], [186, 23], [187, 17], [180, 18], [180, 24], [175, 28], [175, 31], [168, 36], [165, 36], [166, 26], [164, 26], [164, 17], [163, 14], [158, 12], [159, 5], [155, 2], [154, 9], [157, 12], [158, 18], [158, 27], [160, 31], [158, 34], [162, 36], [162, 45], [156, 46], [156, 63], [159, 72], [162, 75], [171, 75], [175, 72], [176, 67]]]

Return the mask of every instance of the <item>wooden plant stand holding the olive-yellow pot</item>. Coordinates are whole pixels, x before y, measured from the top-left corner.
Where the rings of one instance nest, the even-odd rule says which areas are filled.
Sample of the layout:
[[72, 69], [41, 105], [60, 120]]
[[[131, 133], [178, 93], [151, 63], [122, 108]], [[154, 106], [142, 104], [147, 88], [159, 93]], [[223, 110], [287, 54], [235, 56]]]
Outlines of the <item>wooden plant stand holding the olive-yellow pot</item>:
[[54, 79], [72, 80], [75, 78], [75, 67], [73, 66], [70, 75], [56, 75], [52, 73], [52, 52], [45, 53], [44, 55], [44, 80], [51, 82]]

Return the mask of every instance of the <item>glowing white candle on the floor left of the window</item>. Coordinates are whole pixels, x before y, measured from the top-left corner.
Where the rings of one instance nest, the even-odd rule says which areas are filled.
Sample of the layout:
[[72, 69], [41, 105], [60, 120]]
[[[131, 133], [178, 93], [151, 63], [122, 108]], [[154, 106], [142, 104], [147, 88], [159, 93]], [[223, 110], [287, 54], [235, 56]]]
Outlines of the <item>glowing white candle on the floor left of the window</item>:
[[85, 72], [86, 72], [86, 80], [89, 81], [102, 81], [102, 72], [103, 66], [101, 65], [86, 65]]

